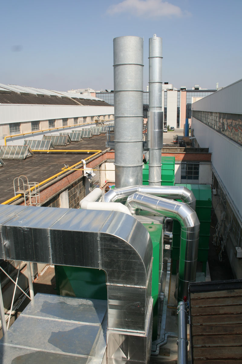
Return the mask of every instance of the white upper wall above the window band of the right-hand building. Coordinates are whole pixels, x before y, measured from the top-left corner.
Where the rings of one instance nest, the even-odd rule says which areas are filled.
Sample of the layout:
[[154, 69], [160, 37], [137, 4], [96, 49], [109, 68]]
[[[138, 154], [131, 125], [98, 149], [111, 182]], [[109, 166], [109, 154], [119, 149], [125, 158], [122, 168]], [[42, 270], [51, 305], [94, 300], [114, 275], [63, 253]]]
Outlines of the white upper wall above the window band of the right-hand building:
[[193, 110], [242, 114], [242, 80], [195, 102]]

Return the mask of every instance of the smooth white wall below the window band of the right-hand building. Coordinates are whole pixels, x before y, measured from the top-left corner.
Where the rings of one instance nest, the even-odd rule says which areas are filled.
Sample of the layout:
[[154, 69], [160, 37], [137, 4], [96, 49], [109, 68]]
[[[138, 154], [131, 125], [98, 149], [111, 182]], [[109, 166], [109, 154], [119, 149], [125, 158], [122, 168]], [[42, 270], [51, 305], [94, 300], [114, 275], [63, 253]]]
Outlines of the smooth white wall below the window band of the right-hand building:
[[192, 125], [199, 145], [212, 152], [212, 165], [242, 215], [242, 147], [195, 118]]

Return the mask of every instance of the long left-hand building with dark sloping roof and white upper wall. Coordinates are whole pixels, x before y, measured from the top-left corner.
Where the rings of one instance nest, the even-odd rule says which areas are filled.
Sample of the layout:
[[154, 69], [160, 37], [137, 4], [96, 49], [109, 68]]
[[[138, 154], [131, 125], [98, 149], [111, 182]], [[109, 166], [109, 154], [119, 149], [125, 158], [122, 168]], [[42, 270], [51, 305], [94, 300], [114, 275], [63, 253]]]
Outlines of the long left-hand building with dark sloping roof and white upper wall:
[[75, 130], [113, 115], [113, 106], [93, 96], [0, 84], [0, 145], [5, 137], [8, 145], [22, 145], [24, 139]]

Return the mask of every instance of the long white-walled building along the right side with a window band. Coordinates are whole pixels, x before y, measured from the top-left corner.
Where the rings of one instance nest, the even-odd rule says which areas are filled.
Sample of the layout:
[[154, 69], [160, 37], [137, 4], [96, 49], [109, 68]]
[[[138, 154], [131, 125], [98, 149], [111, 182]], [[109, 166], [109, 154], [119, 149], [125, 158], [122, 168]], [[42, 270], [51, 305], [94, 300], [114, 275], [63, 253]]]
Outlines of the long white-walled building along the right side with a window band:
[[[197, 146], [212, 153], [213, 206], [234, 276], [242, 278], [242, 80], [192, 104]], [[221, 219], [222, 215], [222, 219]]]

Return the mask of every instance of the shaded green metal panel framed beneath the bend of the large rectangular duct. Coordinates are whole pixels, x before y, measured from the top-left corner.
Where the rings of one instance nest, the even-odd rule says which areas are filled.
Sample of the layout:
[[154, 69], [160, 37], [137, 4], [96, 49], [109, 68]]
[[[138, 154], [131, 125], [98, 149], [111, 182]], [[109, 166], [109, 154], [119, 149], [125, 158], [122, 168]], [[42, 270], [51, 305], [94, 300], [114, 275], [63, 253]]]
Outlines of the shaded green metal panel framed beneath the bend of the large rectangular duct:
[[104, 270], [55, 265], [55, 273], [57, 293], [61, 296], [107, 300]]

